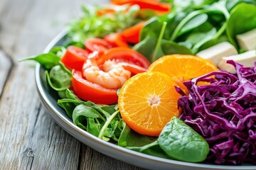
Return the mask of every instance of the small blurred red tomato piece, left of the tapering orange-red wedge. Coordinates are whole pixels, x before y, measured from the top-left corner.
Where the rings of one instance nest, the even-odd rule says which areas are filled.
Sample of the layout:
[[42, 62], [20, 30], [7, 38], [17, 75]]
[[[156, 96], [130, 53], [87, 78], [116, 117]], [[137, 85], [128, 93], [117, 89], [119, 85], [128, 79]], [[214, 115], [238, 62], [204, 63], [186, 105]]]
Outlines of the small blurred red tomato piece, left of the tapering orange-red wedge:
[[124, 38], [122, 37], [121, 33], [112, 33], [105, 36], [104, 39], [107, 40], [107, 42], [110, 42], [112, 47], [129, 47], [126, 40], [124, 40]]

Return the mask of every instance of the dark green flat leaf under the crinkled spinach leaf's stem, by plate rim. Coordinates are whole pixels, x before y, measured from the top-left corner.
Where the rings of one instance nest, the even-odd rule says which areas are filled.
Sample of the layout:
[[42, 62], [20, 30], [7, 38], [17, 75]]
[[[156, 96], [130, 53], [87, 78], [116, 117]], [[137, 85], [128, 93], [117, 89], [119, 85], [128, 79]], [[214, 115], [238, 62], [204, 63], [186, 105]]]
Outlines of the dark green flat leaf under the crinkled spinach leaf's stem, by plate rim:
[[144, 145], [143, 147], [126, 147], [127, 149], [131, 149], [137, 152], [141, 152], [144, 154], [149, 154], [155, 157], [162, 157], [166, 159], [172, 159], [168, 154], [166, 154], [163, 149], [159, 146], [159, 142], [156, 140], [148, 145]]

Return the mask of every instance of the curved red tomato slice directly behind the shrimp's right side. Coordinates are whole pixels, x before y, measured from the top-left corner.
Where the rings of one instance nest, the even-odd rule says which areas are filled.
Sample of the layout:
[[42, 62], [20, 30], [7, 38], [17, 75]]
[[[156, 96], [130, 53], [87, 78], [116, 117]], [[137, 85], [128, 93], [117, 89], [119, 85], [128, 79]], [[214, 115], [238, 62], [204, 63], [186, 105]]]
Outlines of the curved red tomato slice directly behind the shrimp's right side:
[[98, 64], [103, 64], [107, 60], [114, 60], [116, 62], [127, 62], [136, 64], [137, 66], [147, 69], [150, 65], [149, 61], [139, 52], [127, 47], [114, 47], [107, 50], [102, 57], [97, 60]]

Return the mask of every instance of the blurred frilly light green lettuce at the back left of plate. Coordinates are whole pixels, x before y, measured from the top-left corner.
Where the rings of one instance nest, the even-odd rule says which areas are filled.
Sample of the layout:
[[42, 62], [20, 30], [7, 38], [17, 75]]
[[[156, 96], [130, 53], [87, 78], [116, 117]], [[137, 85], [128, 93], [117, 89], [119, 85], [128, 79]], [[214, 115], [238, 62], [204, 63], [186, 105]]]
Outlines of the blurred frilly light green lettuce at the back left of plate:
[[[124, 7], [124, 6], [123, 6]], [[105, 16], [97, 16], [97, 7], [82, 6], [83, 16], [73, 23], [70, 23], [68, 37], [70, 41], [68, 45], [83, 44], [87, 38], [103, 38], [110, 33], [117, 33], [124, 28], [139, 22], [134, 14], [139, 11], [138, 6], [120, 8], [117, 13]]]

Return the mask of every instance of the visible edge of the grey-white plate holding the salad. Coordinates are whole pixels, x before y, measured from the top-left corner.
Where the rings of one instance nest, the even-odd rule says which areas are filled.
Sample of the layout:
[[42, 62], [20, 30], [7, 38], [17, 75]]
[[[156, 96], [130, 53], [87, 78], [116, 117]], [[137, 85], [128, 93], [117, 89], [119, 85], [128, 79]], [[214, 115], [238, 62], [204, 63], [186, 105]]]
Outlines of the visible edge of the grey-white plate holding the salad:
[[[63, 45], [65, 42], [65, 31], [57, 35], [50, 44], [46, 47], [44, 52], [48, 52], [54, 46]], [[73, 135], [76, 139], [80, 140], [85, 145], [92, 147], [93, 149], [106, 154], [107, 156], [119, 159], [122, 162], [127, 162], [135, 166], [141, 166], [146, 169], [250, 169], [255, 170], [256, 166], [242, 165], [242, 166], [223, 166], [215, 164], [195, 164], [188, 162], [179, 162], [171, 159], [164, 159], [159, 157], [153, 157], [147, 154], [135, 152], [124, 147], [119, 147], [110, 142], [105, 142], [99, 138], [90, 135], [85, 130], [78, 128], [73, 124], [73, 121], [68, 117], [63, 108], [60, 108], [57, 104], [58, 94], [53, 89], [50, 89], [46, 84], [45, 69], [36, 65], [36, 85], [38, 94], [41, 98], [43, 106], [55, 120], [61, 128], [63, 128], [70, 135]]]

